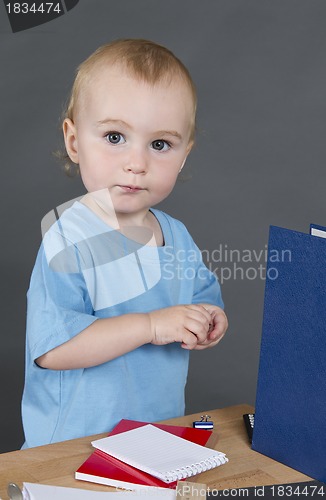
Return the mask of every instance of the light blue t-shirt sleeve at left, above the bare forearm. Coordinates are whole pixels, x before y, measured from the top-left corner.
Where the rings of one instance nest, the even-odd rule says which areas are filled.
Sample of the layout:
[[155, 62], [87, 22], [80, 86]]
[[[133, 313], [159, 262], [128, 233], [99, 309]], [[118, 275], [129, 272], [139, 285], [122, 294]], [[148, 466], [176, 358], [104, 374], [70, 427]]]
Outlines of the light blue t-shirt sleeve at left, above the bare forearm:
[[96, 319], [78, 259], [67, 270], [51, 266], [42, 244], [27, 293], [27, 348], [31, 359], [67, 342]]

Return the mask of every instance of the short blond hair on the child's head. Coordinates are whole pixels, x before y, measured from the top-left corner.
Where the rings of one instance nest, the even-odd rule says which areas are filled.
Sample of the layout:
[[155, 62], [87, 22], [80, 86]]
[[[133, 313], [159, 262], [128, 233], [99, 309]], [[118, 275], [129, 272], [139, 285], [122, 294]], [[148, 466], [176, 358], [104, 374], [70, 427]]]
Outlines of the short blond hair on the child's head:
[[[143, 39], [121, 39], [110, 42], [99, 47], [78, 66], [64, 119], [70, 118], [74, 121], [83, 90], [91, 81], [94, 72], [108, 64], [120, 65], [133, 77], [150, 85], [160, 82], [169, 84], [176, 78], [181, 79], [190, 91], [193, 104], [189, 140], [194, 140], [197, 95], [188, 69], [169, 49]], [[66, 162], [65, 170], [68, 174], [71, 172], [69, 160]]]

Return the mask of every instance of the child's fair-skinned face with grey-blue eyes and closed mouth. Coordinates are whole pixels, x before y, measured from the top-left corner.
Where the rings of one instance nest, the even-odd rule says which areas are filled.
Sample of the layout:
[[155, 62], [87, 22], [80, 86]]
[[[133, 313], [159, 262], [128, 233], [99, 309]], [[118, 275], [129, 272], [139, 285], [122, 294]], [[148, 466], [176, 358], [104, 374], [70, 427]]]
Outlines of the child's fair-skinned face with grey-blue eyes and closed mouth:
[[172, 191], [191, 149], [190, 91], [151, 86], [118, 67], [98, 72], [64, 133], [89, 192], [109, 189], [119, 213], [145, 213]]

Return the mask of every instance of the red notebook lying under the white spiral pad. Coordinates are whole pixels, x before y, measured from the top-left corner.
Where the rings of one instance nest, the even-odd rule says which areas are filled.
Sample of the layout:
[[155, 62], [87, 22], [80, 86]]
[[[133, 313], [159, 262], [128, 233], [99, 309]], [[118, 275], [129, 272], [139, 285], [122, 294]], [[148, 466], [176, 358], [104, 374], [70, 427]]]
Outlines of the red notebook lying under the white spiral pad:
[[[121, 420], [110, 432], [110, 436], [121, 432], [136, 429], [148, 422], [137, 422], [135, 420]], [[214, 448], [217, 436], [212, 431], [204, 429], [193, 429], [192, 427], [179, 427], [167, 424], [152, 424], [159, 429], [170, 432], [175, 436], [187, 439], [202, 446]], [[146, 472], [142, 472], [130, 465], [117, 460], [106, 453], [95, 450], [85, 462], [77, 469], [75, 478], [92, 483], [106, 484], [117, 488], [141, 489], [148, 486], [161, 488], [176, 488], [177, 482], [165, 483]]]

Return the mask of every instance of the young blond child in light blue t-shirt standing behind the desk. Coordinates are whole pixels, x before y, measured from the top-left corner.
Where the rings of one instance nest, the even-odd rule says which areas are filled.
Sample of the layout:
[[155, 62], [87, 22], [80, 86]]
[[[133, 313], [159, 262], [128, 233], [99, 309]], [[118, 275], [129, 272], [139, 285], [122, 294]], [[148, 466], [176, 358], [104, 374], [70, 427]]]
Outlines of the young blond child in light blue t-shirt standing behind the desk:
[[78, 68], [63, 132], [87, 194], [43, 237], [28, 291], [24, 447], [184, 414], [189, 351], [227, 328], [185, 226], [152, 207], [194, 141], [196, 93], [166, 48], [118, 40]]

